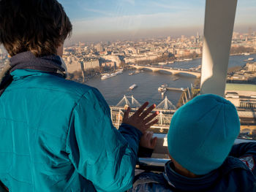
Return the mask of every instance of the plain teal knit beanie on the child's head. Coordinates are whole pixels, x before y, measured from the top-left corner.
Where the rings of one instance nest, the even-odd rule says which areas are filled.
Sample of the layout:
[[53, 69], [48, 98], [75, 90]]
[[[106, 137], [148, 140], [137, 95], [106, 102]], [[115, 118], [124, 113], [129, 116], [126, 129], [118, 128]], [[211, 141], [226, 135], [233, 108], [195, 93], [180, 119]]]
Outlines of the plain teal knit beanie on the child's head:
[[168, 150], [178, 164], [197, 175], [217, 169], [240, 132], [236, 107], [220, 96], [197, 96], [180, 107], [170, 123]]

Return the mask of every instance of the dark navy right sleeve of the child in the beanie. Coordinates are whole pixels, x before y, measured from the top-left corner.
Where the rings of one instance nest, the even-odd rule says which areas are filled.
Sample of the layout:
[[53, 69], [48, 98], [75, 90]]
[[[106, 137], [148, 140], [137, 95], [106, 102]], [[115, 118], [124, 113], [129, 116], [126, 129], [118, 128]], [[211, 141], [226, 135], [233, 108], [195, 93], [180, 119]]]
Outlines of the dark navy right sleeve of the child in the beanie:
[[251, 169], [256, 175], [255, 161], [256, 161], [256, 142], [244, 142], [238, 145], [233, 145], [230, 156], [239, 158]]

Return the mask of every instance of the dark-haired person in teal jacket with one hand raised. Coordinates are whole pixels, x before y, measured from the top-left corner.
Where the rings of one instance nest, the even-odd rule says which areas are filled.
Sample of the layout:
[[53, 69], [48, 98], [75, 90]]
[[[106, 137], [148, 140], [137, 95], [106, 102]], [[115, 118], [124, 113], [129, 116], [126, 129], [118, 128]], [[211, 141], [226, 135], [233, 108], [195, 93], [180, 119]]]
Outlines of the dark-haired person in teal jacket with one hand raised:
[[[126, 191], [155, 107], [116, 130], [96, 88], [64, 79], [72, 25], [56, 0], [1, 0], [0, 180], [10, 191]], [[151, 121], [153, 120], [153, 121]]]

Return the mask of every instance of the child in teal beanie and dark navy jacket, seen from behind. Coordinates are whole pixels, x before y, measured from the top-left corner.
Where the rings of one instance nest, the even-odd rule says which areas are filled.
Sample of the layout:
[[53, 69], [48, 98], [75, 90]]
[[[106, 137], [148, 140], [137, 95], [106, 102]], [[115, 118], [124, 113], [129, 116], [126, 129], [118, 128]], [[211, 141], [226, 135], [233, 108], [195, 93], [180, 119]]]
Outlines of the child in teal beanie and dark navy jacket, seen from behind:
[[165, 172], [143, 172], [131, 191], [256, 191], [256, 143], [233, 143], [236, 107], [220, 96], [197, 96], [173, 115]]

